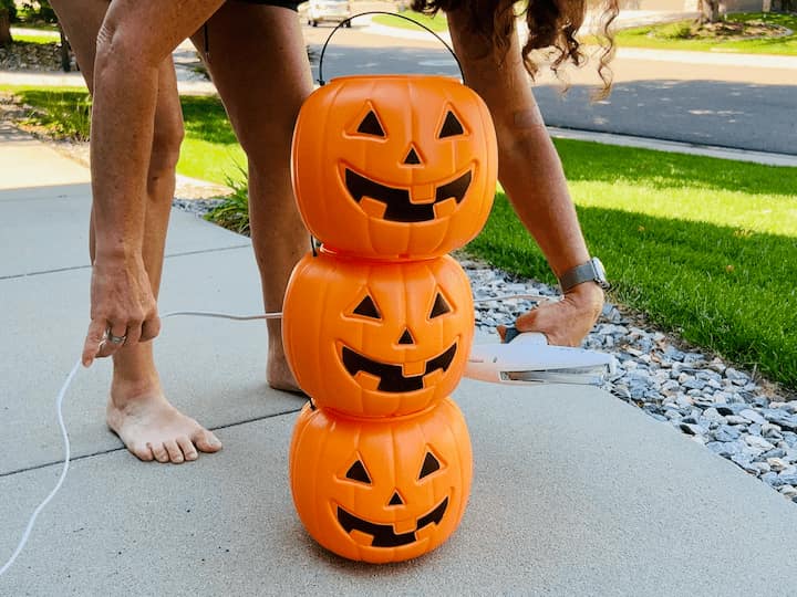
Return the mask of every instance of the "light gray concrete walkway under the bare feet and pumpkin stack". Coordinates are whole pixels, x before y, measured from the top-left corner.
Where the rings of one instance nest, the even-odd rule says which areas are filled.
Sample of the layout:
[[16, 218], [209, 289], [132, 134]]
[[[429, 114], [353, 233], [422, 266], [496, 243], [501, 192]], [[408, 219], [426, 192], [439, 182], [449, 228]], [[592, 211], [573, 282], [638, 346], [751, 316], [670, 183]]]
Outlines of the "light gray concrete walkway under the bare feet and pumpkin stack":
[[[30, 168], [31, 163], [34, 168]], [[29, 174], [23, 174], [23, 172]], [[87, 171], [0, 130], [0, 564], [60, 473], [54, 398], [87, 324]], [[162, 312], [261, 311], [250, 243], [174, 212]], [[261, 323], [164, 322], [176, 406], [225, 449], [142, 463], [105, 429], [108, 364], [65, 400], [74, 462], [1, 596], [786, 595], [797, 509], [670, 426], [594, 388], [464, 380], [474, 447], [459, 530], [413, 562], [340, 559], [304, 533], [287, 454], [303, 400], [265, 384]]]

